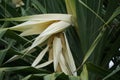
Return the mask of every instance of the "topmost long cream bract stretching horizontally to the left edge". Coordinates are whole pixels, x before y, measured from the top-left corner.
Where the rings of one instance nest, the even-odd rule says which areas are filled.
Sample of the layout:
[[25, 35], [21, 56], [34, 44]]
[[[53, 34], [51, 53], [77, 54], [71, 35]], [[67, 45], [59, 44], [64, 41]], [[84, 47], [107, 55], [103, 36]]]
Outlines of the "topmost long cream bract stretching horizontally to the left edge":
[[61, 20], [71, 23], [71, 15], [69, 14], [39, 14], [39, 15], [32, 15], [32, 16], [24, 16], [18, 18], [6, 18], [0, 19], [0, 21], [46, 21], [46, 20]]

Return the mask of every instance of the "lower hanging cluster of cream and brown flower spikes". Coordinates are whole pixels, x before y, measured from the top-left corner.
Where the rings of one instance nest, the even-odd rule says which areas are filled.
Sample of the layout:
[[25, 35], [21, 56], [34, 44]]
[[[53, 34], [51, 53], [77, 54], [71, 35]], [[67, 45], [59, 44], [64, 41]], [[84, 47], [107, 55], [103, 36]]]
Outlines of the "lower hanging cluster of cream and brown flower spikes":
[[[39, 64], [46, 52], [49, 52], [49, 58], [47, 62]], [[32, 63], [32, 67], [42, 68], [53, 63], [55, 72], [64, 72], [67, 75], [77, 76], [75, 62], [68, 44], [65, 33], [60, 32], [52, 35], [48, 39], [47, 47]]]

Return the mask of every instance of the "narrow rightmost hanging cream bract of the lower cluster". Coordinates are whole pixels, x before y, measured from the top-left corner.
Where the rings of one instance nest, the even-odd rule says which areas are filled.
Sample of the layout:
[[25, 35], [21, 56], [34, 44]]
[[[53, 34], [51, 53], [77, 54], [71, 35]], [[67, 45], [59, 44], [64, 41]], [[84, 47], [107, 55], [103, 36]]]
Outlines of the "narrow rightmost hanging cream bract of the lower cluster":
[[65, 42], [66, 42], [66, 48], [67, 48], [67, 52], [65, 54], [65, 58], [66, 58], [66, 60], [68, 62], [68, 65], [69, 65], [69, 67], [71, 69], [72, 74], [74, 76], [77, 76], [77, 72], [74, 72], [76, 70], [76, 66], [75, 66], [75, 62], [74, 62], [74, 59], [73, 59], [73, 56], [72, 56], [69, 44], [68, 44], [68, 40], [67, 40], [65, 34], [64, 34], [64, 36], [65, 36]]

